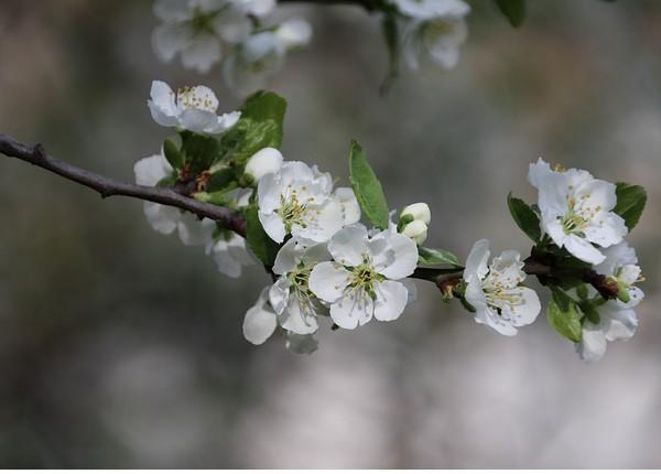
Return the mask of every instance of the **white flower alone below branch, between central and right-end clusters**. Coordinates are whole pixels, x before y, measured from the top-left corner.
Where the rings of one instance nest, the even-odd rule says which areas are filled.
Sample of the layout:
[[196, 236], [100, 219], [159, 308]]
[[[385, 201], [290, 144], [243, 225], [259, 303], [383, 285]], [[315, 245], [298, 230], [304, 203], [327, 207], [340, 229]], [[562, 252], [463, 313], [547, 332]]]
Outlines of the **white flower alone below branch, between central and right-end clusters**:
[[516, 250], [506, 250], [488, 265], [489, 240], [479, 240], [466, 259], [465, 299], [475, 309], [475, 321], [506, 336], [531, 324], [541, 310], [537, 293], [521, 283], [525, 273]]

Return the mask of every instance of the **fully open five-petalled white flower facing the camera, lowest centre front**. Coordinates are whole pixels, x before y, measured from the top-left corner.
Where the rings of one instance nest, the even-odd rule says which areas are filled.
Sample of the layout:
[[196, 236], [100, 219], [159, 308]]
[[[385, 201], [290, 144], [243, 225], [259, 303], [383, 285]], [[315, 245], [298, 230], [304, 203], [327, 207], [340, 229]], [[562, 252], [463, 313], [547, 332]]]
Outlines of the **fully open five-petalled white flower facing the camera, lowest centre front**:
[[393, 228], [368, 235], [361, 224], [339, 230], [328, 243], [335, 261], [317, 263], [310, 289], [330, 305], [339, 327], [353, 330], [368, 323], [397, 320], [409, 301], [402, 280], [418, 265], [418, 247]]

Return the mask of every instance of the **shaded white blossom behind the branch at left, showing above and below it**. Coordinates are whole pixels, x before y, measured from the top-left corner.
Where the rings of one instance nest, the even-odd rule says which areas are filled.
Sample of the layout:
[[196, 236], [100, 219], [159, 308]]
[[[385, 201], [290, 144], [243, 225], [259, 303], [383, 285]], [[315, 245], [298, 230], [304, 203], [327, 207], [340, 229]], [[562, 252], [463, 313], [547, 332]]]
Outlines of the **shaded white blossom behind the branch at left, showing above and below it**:
[[[164, 177], [173, 173], [173, 169], [161, 154], [143, 158], [133, 166], [136, 183], [142, 186], [155, 186]], [[144, 202], [144, 215], [154, 230], [172, 234], [177, 230], [178, 237], [187, 246], [208, 246], [213, 241], [216, 224], [208, 218], [198, 219], [194, 214], [176, 207]]]

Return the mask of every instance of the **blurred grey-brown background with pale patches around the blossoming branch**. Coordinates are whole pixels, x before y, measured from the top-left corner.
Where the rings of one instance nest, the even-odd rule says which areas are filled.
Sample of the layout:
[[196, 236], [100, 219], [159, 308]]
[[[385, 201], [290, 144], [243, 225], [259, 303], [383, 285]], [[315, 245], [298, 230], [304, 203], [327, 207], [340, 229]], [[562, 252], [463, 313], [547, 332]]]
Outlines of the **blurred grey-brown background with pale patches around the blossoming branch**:
[[[228, 279], [140, 202], [1, 157], [0, 466], [661, 467], [661, 2], [538, 0], [520, 30], [473, 3], [458, 66], [403, 69], [386, 97], [376, 18], [288, 7], [315, 36], [270, 83], [284, 154], [346, 183], [359, 140], [390, 205], [430, 203], [427, 243], [462, 259], [485, 237], [528, 250], [506, 196], [533, 201], [539, 155], [644, 185], [633, 340], [585, 365], [543, 314], [499, 336], [421, 282], [400, 320], [326, 331], [311, 356], [253, 347], [258, 267]], [[0, 131], [130, 181], [167, 133], [152, 79], [240, 104], [218, 69], [158, 62], [155, 25], [150, 1], [2, 0]]]

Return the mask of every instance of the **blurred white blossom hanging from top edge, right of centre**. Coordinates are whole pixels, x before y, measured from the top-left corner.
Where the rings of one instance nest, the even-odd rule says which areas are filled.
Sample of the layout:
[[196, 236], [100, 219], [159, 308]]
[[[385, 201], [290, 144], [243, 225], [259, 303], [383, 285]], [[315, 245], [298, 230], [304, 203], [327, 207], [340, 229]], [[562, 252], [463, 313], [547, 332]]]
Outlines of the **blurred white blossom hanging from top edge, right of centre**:
[[459, 46], [468, 36], [466, 17], [470, 7], [462, 0], [392, 0], [403, 21], [403, 54], [409, 67], [419, 68], [429, 55], [445, 69], [459, 60]]

